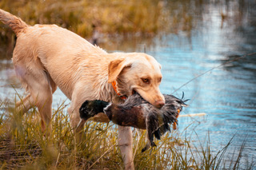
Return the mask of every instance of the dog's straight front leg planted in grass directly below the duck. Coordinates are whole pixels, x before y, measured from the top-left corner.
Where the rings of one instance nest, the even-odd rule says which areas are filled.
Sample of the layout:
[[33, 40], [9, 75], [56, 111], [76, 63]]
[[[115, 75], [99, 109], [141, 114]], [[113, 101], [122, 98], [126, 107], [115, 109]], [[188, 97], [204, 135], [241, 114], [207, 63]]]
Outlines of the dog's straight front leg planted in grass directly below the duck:
[[125, 169], [134, 169], [133, 136], [130, 127], [118, 126], [118, 144]]

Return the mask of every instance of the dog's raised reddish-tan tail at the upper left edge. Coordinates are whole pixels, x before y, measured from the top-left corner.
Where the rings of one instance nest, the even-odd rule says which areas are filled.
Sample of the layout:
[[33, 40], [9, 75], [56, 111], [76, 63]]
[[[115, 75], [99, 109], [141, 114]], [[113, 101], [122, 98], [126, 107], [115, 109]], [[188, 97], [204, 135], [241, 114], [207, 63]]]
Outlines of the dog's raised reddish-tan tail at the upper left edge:
[[0, 9], [0, 21], [2, 21], [7, 26], [10, 26], [10, 28], [14, 31], [16, 35], [22, 32], [25, 32], [26, 28], [28, 27], [26, 22], [23, 22], [21, 18], [18, 18], [13, 14], [10, 14], [5, 10], [1, 10], [1, 9]]

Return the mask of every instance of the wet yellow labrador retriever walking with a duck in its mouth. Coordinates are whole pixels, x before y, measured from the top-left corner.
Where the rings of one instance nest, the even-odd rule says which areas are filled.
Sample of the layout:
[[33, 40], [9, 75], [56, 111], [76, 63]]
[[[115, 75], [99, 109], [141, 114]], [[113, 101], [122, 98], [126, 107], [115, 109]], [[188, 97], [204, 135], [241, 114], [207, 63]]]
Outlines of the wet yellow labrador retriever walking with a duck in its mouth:
[[[78, 109], [86, 100], [120, 103], [121, 96], [136, 91], [158, 108], [165, 104], [159, 90], [161, 66], [154, 57], [106, 53], [69, 30], [56, 25], [29, 26], [4, 10], [0, 10], [0, 20], [17, 35], [14, 69], [28, 92], [16, 105], [23, 113], [37, 106], [42, 131], [50, 127], [52, 94], [57, 86], [71, 101], [68, 113], [76, 132], [84, 125], [78, 126]], [[105, 114], [99, 115], [95, 121], [108, 121]], [[131, 129], [119, 126], [118, 140], [125, 168], [134, 169]]]

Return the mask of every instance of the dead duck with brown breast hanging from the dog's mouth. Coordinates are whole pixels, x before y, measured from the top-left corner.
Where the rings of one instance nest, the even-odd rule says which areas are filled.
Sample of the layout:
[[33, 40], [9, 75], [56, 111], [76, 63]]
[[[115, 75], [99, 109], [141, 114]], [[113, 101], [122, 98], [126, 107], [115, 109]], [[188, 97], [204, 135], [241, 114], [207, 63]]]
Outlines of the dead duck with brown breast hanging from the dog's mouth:
[[80, 117], [88, 120], [98, 113], [106, 113], [110, 121], [116, 125], [132, 126], [134, 128], [142, 128], [147, 131], [148, 142], [146, 149], [156, 146], [154, 137], [158, 140], [161, 136], [170, 131], [170, 124], [173, 128], [177, 128], [177, 118], [182, 111], [182, 106], [186, 106], [182, 99], [178, 99], [173, 95], [164, 94], [166, 104], [161, 109], [155, 108], [149, 102], [145, 101], [138, 93], [135, 93], [127, 98], [120, 105], [108, 103], [106, 101], [85, 101], [79, 109]]

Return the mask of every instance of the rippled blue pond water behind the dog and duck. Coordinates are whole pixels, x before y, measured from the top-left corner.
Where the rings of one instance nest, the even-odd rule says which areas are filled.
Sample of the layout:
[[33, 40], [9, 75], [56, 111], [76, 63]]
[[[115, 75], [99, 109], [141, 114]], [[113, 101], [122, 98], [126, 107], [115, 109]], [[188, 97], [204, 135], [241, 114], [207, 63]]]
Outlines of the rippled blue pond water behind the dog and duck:
[[[190, 101], [182, 114], [206, 113], [206, 117], [179, 118], [179, 132], [190, 125], [186, 136], [192, 134], [195, 144], [199, 144], [198, 140], [204, 143], [209, 132], [210, 144], [216, 152], [235, 135], [231, 154], [234, 150], [238, 154], [246, 139], [243, 156], [255, 160], [256, 54], [222, 65], [256, 52], [255, 4], [253, 1], [166, 2], [166, 9], [172, 11], [170, 18], [179, 16], [182, 9], [190, 19], [170, 26], [170, 34], [161, 34], [161, 38], [114, 38], [100, 46], [109, 52], [146, 49], [162, 65], [162, 93], [178, 97], [185, 93]], [[14, 77], [10, 59], [1, 59], [0, 65], [0, 99], [11, 99], [15, 90], [9, 84], [16, 85], [19, 93], [23, 90]], [[184, 85], [218, 65], [222, 66]], [[66, 97], [60, 90], [54, 93], [54, 107], [63, 100]]]

